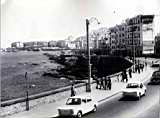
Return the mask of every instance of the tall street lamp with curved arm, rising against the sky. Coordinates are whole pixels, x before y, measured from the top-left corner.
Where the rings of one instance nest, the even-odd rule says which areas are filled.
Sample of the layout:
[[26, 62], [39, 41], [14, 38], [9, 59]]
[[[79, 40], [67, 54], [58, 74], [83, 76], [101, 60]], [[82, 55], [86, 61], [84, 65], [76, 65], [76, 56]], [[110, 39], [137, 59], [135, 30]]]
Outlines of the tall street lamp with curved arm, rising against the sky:
[[86, 38], [87, 38], [87, 52], [88, 52], [88, 86], [86, 92], [91, 92], [91, 55], [90, 55], [90, 40], [89, 40], [89, 24], [96, 21], [97, 24], [100, 22], [95, 17], [91, 17], [89, 20], [86, 19]]

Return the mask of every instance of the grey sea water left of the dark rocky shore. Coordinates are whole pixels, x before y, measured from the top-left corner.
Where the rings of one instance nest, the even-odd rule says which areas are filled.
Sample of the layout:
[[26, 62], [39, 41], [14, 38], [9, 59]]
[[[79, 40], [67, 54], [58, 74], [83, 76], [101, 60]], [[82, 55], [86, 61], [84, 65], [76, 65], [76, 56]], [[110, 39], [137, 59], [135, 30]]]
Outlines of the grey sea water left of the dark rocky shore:
[[[50, 62], [44, 52], [12, 52], [1, 55], [1, 100], [25, 97], [26, 79], [29, 83], [29, 94], [41, 93], [70, 84], [70, 80], [42, 76], [50, 69], [61, 66]], [[57, 54], [57, 52], [52, 52]]]

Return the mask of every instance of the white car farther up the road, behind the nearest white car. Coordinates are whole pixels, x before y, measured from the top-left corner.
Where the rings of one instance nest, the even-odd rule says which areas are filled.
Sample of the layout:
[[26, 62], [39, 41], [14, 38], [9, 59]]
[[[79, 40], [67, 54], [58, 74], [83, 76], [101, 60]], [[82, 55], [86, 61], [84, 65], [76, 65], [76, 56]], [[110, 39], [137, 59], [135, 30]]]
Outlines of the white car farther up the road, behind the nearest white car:
[[133, 96], [138, 99], [146, 94], [146, 86], [142, 82], [129, 82], [123, 90], [123, 96]]

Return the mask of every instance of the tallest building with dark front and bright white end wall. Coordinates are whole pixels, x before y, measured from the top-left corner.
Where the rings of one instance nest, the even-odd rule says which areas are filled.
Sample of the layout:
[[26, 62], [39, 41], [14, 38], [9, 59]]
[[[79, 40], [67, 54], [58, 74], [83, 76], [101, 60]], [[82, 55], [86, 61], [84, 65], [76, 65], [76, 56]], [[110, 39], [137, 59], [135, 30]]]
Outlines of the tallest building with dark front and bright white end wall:
[[[153, 19], [154, 15], [138, 15], [127, 20], [128, 50], [131, 53], [135, 53], [135, 55], [146, 53], [147, 47], [145, 47], [144, 42], [154, 42]], [[154, 52], [154, 45], [150, 52]]]

